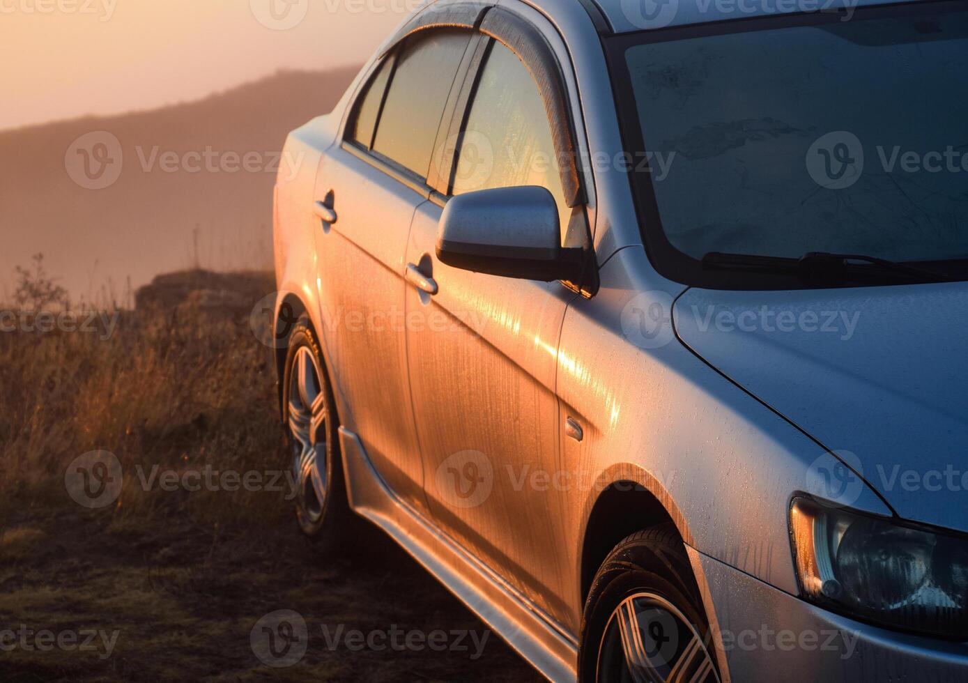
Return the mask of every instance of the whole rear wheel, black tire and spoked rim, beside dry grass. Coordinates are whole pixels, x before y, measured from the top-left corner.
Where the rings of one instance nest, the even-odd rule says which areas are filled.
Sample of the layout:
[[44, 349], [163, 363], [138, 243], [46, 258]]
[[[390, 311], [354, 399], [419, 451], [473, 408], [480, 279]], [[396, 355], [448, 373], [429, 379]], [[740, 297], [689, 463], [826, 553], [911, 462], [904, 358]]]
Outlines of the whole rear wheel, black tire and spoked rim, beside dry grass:
[[283, 418], [296, 482], [296, 520], [325, 547], [343, 540], [349, 511], [339, 417], [316, 333], [303, 315], [288, 340], [283, 377]]

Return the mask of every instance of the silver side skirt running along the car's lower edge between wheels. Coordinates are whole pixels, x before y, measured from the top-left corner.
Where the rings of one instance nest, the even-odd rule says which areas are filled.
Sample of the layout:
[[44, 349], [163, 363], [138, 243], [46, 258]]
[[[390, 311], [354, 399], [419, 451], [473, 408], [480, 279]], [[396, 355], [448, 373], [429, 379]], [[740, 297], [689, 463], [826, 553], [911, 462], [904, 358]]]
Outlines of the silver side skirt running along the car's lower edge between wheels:
[[340, 428], [349, 506], [377, 524], [458, 600], [551, 681], [577, 680], [578, 648], [466, 549], [411, 509], [380, 478], [356, 434]]

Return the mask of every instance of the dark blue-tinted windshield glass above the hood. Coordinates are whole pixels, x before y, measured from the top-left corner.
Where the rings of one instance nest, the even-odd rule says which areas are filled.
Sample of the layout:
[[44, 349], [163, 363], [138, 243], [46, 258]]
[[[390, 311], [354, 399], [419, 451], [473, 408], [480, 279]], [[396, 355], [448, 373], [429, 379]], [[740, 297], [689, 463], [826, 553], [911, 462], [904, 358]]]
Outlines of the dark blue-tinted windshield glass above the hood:
[[667, 277], [698, 275], [709, 252], [867, 254], [964, 276], [968, 12], [653, 31], [616, 39], [612, 58]]

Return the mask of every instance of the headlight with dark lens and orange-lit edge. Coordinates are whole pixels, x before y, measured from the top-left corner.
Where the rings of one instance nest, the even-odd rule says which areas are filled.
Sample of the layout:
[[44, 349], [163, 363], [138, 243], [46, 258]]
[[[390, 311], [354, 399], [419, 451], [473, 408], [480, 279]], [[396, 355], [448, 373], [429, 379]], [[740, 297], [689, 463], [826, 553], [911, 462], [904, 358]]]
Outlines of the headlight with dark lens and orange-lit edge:
[[968, 542], [794, 498], [803, 597], [862, 620], [968, 638]]

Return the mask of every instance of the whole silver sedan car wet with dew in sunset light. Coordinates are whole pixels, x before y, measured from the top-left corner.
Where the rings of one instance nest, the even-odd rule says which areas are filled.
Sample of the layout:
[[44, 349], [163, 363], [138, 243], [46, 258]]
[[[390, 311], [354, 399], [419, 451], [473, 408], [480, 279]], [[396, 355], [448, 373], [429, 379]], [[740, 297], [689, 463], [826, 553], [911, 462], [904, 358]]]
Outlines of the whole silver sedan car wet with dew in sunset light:
[[555, 681], [968, 680], [963, 2], [439, 0], [286, 151], [307, 534]]

